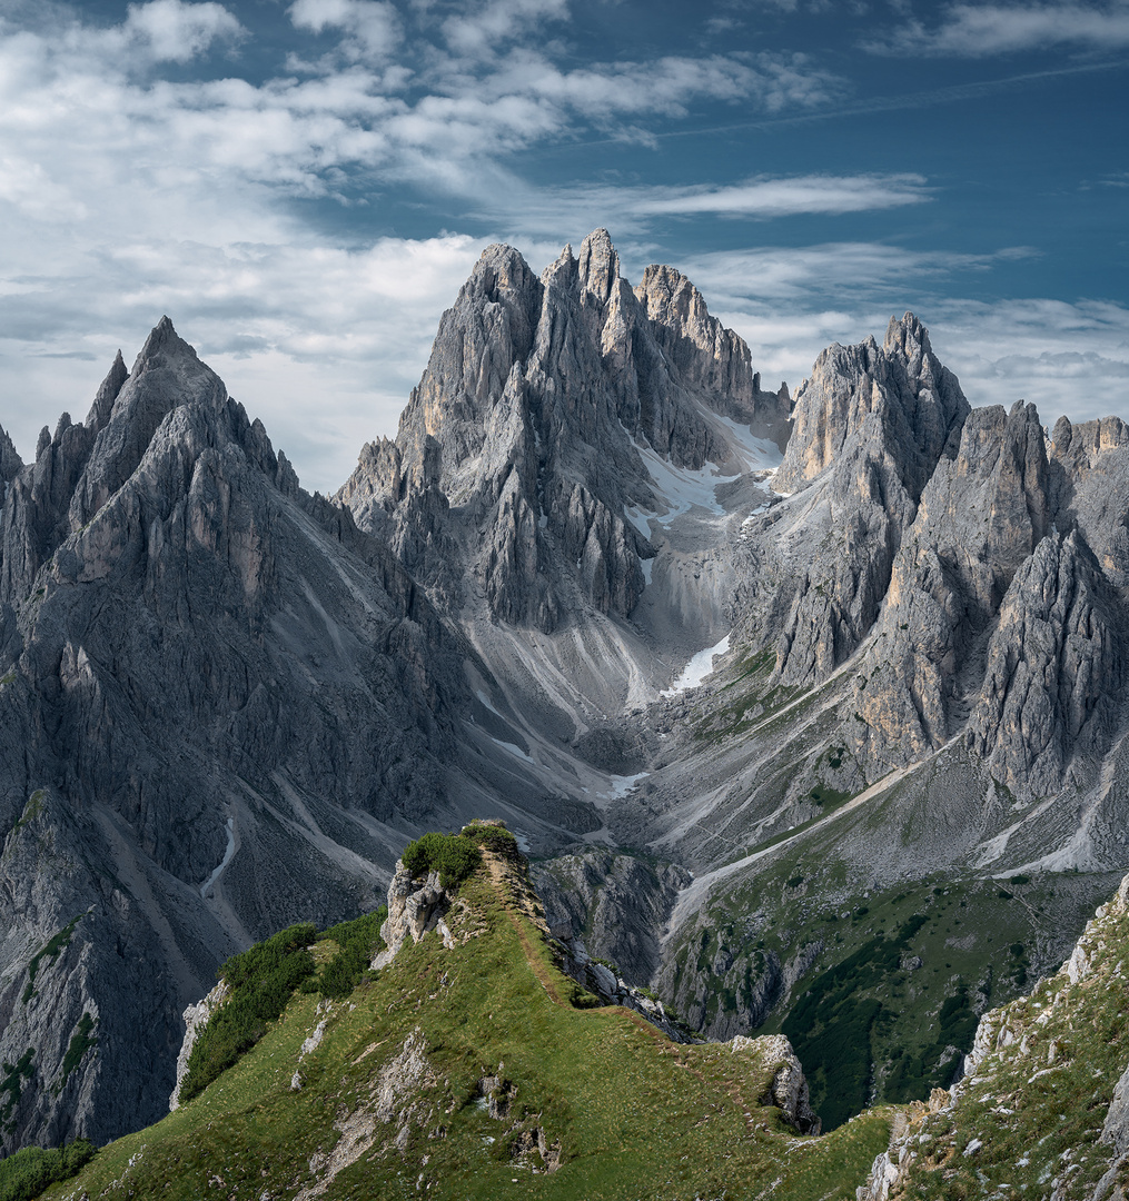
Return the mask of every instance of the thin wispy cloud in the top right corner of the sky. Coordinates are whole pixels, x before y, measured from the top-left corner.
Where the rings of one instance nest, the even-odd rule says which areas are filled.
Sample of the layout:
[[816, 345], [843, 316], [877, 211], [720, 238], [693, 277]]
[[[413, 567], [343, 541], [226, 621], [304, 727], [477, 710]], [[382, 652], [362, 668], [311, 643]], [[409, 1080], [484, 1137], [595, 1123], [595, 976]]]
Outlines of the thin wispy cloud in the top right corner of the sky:
[[910, 20], [866, 48], [879, 54], [918, 53], [985, 58], [1023, 50], [1075, 47], [1089, 50], [1129, 46], [1129, 5], [954, 5], [940, 20]]

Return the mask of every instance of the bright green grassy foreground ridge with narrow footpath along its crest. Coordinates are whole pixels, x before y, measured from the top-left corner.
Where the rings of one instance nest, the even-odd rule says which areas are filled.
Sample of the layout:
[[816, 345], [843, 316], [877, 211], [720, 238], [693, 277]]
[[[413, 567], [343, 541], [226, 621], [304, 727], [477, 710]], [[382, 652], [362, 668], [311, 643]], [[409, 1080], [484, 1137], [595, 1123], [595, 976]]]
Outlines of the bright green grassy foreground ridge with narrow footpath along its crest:
[[578, 1008], [522, 866], [488, 850], [446, 921], [452, 949], [432, 932], [340, 999], [295, 991], [198, 1097], [46, 1195], [853, 1199], [886, 1146], [884, 1110], [798, 1136], [755, 1047]]

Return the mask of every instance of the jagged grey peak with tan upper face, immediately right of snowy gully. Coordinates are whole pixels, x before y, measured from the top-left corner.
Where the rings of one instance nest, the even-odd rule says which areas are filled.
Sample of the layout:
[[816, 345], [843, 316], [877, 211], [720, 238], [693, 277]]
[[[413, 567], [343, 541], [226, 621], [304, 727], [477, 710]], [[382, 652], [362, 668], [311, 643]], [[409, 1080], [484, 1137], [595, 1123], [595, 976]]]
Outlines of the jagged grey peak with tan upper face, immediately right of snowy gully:
[[968, 411], [913, 313], [890, 322], [882, 347], [868, 339], [819, 357], [772, 480], [800, 497], [751, 531], [739, 593], [742, 640], [773, 649], [783, 683], [822, 682], [868, 634], [921, 490]]

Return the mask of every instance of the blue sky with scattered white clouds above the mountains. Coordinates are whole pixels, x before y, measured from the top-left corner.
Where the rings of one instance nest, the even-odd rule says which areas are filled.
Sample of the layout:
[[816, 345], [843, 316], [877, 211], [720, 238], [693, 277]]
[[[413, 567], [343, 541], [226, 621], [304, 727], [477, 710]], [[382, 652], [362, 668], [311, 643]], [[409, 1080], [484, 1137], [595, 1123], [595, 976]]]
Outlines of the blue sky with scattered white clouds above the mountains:
[[0, 0], [0, 425], [163, 313], [303, 484], [483, 247], [607, 227], [795, 390], [912, 309], [974, 405], [1129, 420], [1129, 0]]

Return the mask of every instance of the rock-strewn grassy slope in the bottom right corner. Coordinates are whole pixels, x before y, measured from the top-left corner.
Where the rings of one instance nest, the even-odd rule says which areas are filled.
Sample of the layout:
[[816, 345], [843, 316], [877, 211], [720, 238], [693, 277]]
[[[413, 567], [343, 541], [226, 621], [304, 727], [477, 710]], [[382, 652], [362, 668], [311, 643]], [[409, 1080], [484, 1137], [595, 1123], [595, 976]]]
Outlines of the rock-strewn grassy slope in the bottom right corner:
[[1063, 969], [985, 1015], [969, 1075], [908, 1121], [871, 1199], [1116, 1201], [1129, 1189], [1129, 877]]

